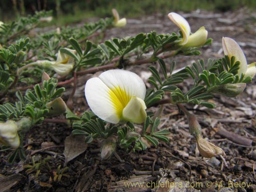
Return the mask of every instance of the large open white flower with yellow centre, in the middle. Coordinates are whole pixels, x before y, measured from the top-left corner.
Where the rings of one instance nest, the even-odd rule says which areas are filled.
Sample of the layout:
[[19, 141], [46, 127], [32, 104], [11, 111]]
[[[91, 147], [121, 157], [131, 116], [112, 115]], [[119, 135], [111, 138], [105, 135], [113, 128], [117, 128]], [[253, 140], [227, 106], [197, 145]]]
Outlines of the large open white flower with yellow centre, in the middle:
[[87, 102], [99, 118], [118, 123], [142, 123], [146, 118], [146, 87], [135, 73], [120, 69], [101, 73], [87, 81], [84, 89]]

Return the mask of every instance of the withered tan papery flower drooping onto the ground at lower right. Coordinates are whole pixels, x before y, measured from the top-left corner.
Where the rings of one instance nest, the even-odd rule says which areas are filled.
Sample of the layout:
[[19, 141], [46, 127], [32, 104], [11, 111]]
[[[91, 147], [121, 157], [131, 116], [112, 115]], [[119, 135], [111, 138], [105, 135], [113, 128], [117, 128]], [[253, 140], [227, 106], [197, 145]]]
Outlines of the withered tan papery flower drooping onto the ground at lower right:
[[198, 135], [196, 139], [197, 139], [197, 147], [201, 156], [206, 158], [211, 158], [211, 157], [225, 154], [222, 148], [206, 141], [205, 139], [202, 138], [201, 135]]

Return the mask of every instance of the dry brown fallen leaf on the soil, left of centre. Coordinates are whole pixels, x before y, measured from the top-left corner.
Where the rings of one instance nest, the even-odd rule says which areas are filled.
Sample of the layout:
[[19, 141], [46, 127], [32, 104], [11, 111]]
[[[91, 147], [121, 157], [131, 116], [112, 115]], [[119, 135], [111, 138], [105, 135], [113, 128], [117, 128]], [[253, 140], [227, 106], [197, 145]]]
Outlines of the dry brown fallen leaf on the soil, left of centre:
[[65, 150], [63, 155], [65, 156], [64, 167], [69, 161], [76, 158], [87, 150], [87, 143], [84, 142], [83, 136], [70, 135], [65, 140]]

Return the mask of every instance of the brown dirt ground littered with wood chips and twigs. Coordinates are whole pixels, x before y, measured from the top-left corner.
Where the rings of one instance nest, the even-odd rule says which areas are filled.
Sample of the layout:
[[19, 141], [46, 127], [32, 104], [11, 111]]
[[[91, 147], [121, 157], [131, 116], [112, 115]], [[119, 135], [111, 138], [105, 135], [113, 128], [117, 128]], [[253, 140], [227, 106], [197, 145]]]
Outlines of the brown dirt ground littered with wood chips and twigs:
[[[223, 36], [236, 39], [248, 63], [256, 61], [256, 12], [239, 9], [234, 12], [212, 13], [196, 11], [180, 13], [188, 20], [191, 31], [205, 26], [213, 44], [202, 48], [202, 55], [177, 56], [177, 69], [191, 64], [199, 58], [220, 58], [223, 56], [221, 40]], [[115, 28], [106, 32], [104, 40], [111, 37], [134, 36], [140, 32], [155, 30], [157, 33], [177, 32], [167, 15], [155, 14], [127, 20], [125, 28]], [[205, 60], [205, 61], [206, 61]], [[166, 63], [171, 59], [166, 60]], [[129, 68], [139, 75], [147, 72], [149, 65]], [[217, 96], [217, 108], [186, 105], [193, 112], [201, 126], [203, 136], [221, 147], [225, 156], [202, 158], [196, 148], [195, 139], [188, 133], [185, 116], [174, 105], [164, 105], [160, 129], [169, 129], [169, 143], [160, 142], [157, 147], [145, 151], [126, 153], [117, 148], [110, 159], [101, 161], [100, 141], [84, 144], [81, 138], [70, 141], [71, 127], [65, 123], [44, 122], [33, 127], [27, 134], [25, 148], [27, 160], [9, 164], [8, 154], [1, 153], [0, 192], [3, 191], [256, 191], [256, 79], [246, 87], [238, 98]], [[84, 81], [77, 89], [74, 106], [78, 113], [88, 110], [83, 94]], [[184, 91], [192, 82], [180, 84]], [[156, 111], [157, 108], [149, 110]], [[66, 142], [65, 142], [66, 139]], [[71, 139], [72, 140], [72, 139]], [[68, 169], [59, 181], [49, 178], [60, 175], [63, 170], [68, 142], [81, 153], [67, 163]], [[66, 152], [65, 152], [66, 150]], [[65, 154], [65, 155], [63, 155]], [[38, 177], [36, 171], [28, 173], [24, 165], [32, 164], [32, 157], [49, 157]], [[67, 161], [67, 159], [66, 159]], [[60, 170], [60, 171], [61, 171]], [[136, 182], [142, 185], [136, 185]], [[160, 183], [167, 184], [160, 184]], [[133, 184], [132, 184], [133, 183]], [[128, 186], [130, 185], [130, 186]], [[136, 186], [135, 186], [136, 185]], [[1, 189], [2, 188], [2, 189]]]

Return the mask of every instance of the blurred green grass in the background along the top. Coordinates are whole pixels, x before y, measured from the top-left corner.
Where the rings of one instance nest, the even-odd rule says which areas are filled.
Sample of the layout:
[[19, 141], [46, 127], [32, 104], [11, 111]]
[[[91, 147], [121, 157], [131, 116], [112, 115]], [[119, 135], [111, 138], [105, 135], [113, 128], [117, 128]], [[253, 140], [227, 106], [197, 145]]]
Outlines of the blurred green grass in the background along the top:
[[[77, 23], [90, 17], [110, 17], [112, 16], [112, 8], [118, 10], [120, 17], [128, 18], [154, 13], [167, 14], [173, 11], [189, 12], [197, 9], [227, 11], [236, 10], [243, 6], [251, 10], [256, 8], [255, 0], [74, 0], [73, 2], [63, 0], [60, 3], [61, 11], [58, 13], [56, 13], [55, 5], [47, 7], [47, 9], [55, 10], [55, 17], [58, 15], [57, 20], [53, 21], [58, 26]], [[19, 10], [20, 8], [16, 9], [17, 12], [15, 13], [15, 11], [10, 10], [8, 12], [8, 10], [0, 8], [0, 13], [4, 12], [4, 15], [10, 15], [10, 13], [19, 15]]]

